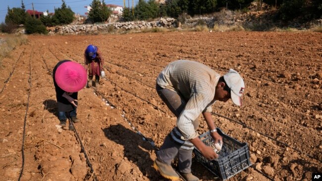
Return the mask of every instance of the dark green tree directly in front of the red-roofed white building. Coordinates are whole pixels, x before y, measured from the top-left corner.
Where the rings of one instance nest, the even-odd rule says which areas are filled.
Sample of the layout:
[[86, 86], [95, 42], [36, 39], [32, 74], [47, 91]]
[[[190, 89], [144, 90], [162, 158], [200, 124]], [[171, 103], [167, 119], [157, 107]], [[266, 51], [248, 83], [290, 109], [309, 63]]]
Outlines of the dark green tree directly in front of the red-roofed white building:
[[106, 21], [112, 13], [110, 8], [106, 6], [104, 0], [102, 3], [100, 0], [93, 0], [91, 3], [91, 8], [92, 9], [88, 13], [88, 18], [94, 23]]

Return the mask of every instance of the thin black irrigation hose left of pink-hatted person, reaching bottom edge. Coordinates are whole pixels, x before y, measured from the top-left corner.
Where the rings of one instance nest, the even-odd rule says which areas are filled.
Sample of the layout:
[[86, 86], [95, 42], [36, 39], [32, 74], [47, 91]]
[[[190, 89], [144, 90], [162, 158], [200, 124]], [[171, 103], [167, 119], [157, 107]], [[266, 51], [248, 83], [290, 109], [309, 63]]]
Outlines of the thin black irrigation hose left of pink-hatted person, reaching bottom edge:
[[25, 165], [24, 145], [25, 145], [26, 120], [27, 120], [27, 114], [28, 114], [28, 109], [29, 109], [29, 98], [30, 98], [30, 92], [31, 92], [31, 86], [32, 86], [32, 84], [31, 84], [31, 55], [32, 55], [32, 52], [30, 53], [30, 59], [29, 59], [29, 79], [28, 79], [29, 90], [28, 90], [28, 98], [27, 98], [27, 105], [26, 105], [26, 114], [25, 114], [25, 119], [23, 122], [23, 135], [22, 135], [22, 146], [21, 146], [22, 166], [21, 166], [21, 171], [20, 171], [18, 181], [20, 181], [20, 179], [22, 177], [23, 168]]

